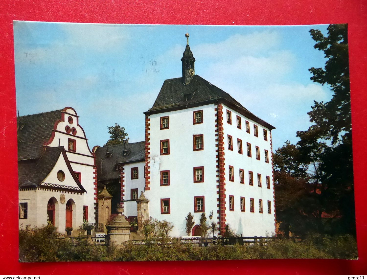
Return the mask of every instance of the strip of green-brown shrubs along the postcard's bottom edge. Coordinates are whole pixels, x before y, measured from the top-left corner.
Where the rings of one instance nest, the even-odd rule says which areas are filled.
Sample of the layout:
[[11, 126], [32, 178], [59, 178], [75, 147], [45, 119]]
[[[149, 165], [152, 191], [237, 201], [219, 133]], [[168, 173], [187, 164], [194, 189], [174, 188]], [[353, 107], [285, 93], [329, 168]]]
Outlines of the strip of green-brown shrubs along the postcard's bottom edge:
[[[167, 221], [166, 230], [170, 226]], [[146, 224], [157, 225], [150, 218]], [[160, 229], [161, 230], [161, 229]], [[152, 230], [150, 230], [152, 232]], [[166, 234], [166, 233], [165, 233]], [[356, 259], [356, 240], [349, 235], [313, 236], [302, 241], [268, 239], [266, 243], [194, 247], [167, 236], [151, 238], [145, 244], [130, 241], [123, 248], [88, 243], [84, 238], [65, 238], [54, 226], [19, 230], [19, 261], [186, 261], [227, 259], [343, 258]], [[149, 236], [149, 234], [148, 234]], [[150, 233], [153, 237], [153, 233]]]

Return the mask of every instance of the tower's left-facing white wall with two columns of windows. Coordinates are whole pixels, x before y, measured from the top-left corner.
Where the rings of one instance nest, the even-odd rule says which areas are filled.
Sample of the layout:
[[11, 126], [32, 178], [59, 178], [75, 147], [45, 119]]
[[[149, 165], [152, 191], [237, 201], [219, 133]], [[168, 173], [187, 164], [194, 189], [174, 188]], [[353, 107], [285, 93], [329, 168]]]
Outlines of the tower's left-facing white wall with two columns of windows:
[[[215, 163], [215, 106], [159, 113], [150, 116], [150, 190], [145, 196], [150, 200], [149, 213], [158, 220], [174, 223], [172, 236], [186, 235], [186, 215], [191, 212], [195, 224], [200, 212], [194, 212], [194, 197], [204, 196], [208, 217], [214, 212], [217, 221], [217, 178]], [[193, 112], [203, 110], [203, 123], [193, 125]], [[169, 129], [160, 130], [160, 117], [169, 116]], [[193, 135], [204, 135], [204, 149], [193, 151]], [[170, 139], [170, 154], [160, 155], [160, 140]], [[193, 182], [193, 168], [204, 166], [204, 182]], [[170, 185], [160, 186], [160, 171], [170, 170]], [[170, 214], [161, 214], [160, 200], [170, 198]], [[209, 221], [209, 218], [207, 218]]]

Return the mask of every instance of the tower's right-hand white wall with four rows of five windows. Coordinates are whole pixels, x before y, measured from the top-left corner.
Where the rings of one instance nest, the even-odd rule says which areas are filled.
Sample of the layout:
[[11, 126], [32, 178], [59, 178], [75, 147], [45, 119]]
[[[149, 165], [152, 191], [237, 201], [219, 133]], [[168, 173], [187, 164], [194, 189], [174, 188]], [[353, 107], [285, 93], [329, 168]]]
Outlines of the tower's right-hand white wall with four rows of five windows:
[[[232, 112], [232, 124], [226, 120], [227, 109]], [[241, 129], [237, 128], [236, 116], [241, 117]], [[245, 121], [250, 123], [250, 133], [246, 132]], [[258, 137], [254, 135], [254, 124], [258, 126]], [[238, 234], [244, 236], [266, 236], [275, 232], [274, 225], [274, 199], [273, 199], [273, 174], [270, 148], [270, 132], [268, 128], [268, 141], [264, 140], [263, 129], [254, 121], [247, 119], [236, 111], [223, 105], [223, 129], [225, 150], [225, 178], [226, 178], [226, 223]], [[233, 138], [233, 151], [228, 149], [228, 135]], [[242, 140], [243, 153], [238, 153], [237, 138]], [[252, 157], [247, 156], [246, 143], [251, 143]], [[260, 160], [256, 159], [255, 146], [260, 149]], [[265, 150], [269, 153], [269, 163], [265, 162]], [[229, 181], [229, 166], [234, 169], [234, 182]], [[240, 183], [239, 169], [244, 170], [244, 184]], [[248, 171], [253, 172], [254, 185], [248, 183]], [[261, 174], [262, 187], [258, 187], [257, 174]], [[270, 177], [270, 189], [266, 188], [266, 176]], [[229, 210], [229, 196], [234, 196], [234, 211]], [[245, 197], [245, 212], [240, 210], [240, 197]], [[250, 212], [250, 198], [254, 199], [254, 212]], [[259, 213], [259, 199], [263, 200], [263, 213]], [[272, 201], [272, 213], [268, 214], [267, 201]]]

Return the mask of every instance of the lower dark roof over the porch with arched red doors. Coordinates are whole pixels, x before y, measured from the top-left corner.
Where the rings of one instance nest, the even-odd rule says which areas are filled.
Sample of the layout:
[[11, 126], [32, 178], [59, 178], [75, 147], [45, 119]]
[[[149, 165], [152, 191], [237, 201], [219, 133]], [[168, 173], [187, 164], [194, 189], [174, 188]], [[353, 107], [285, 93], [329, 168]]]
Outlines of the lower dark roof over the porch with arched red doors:
[[[79, 192], [85, 192], [86, 190], [80, 184], [80, 182], [75, 177], [75, 174], [70, 166], [68, 158], [65, 153], [65, 149], [63, 146], [61, 147], [44, 147], [40, 153], [39, 159], [30, 159], [30, 160], [18, 160], [18, 184], [19, 187], [26, 188], [27, 186], [38, 186], [51, 172], [52, 168], [54, 168], [60, 154], [63, 154], [63, 157], [66, 161], [66, 165], [69, 170], [65, 170], [64, 172], [70, 172], [73, 176], [74, 181], [77, 183]], [[54, 185], [52, 188], [54, 189], [67, 189], [68, 186], [63, 185]], [[75, 187], [73, 187], [75, 188]], [[76, 190], [76, 189], [74, 189]]]

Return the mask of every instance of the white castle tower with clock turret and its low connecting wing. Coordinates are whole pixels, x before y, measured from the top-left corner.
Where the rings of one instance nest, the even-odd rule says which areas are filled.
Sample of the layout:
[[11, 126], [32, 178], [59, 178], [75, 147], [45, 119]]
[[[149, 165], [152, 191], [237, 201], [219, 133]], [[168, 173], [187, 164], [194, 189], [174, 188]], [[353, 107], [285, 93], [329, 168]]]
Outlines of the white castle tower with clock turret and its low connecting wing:
[[145, 112], [145, 142], [95, 150], [98, 181], [120, 185], [120, 203], [130, 221], [143, 191], [149, 215], [186, 235], [191, 212], [198, 234], [202, 212], [224, 233], [266, 236], [275, 232], [271, 130], [228, 93], [195, 74], [188, 44], [182, 77], [165, 80]]

